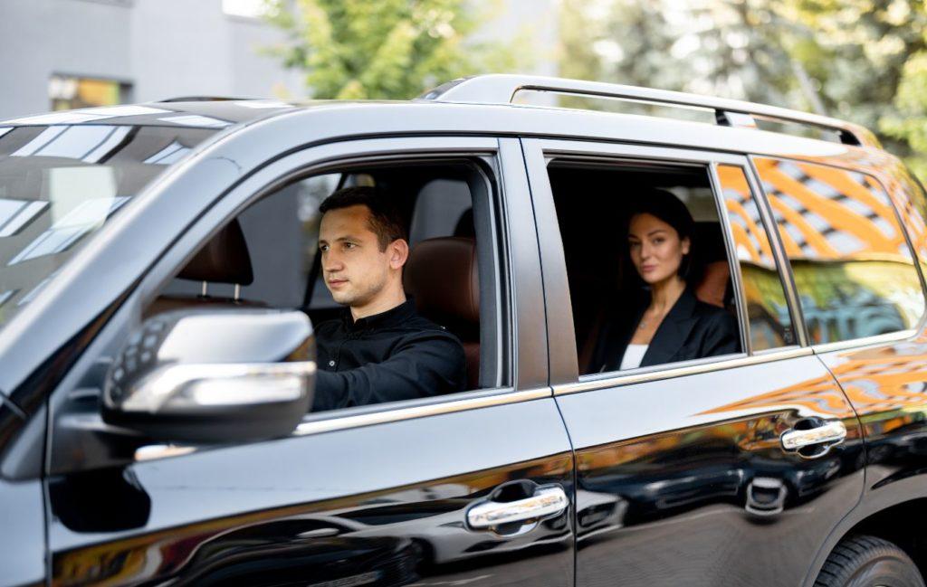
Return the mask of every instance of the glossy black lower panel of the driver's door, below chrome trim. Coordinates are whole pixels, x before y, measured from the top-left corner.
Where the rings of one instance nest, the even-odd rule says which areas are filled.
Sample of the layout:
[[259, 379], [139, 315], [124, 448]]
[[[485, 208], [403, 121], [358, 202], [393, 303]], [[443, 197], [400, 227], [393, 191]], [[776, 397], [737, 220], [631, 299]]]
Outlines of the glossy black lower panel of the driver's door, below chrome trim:
[[[358, 575], [569, 585], [568, 511], [508, 539], [467, 530], [464, 512], [507, 481], [571, 492], [572, 470], [544, 399], [59, 476], [49, 487], [53, 584], [210, 584], [235, 572], [255, 585]], [[504, 547], [441, 566], [486, 541]]]

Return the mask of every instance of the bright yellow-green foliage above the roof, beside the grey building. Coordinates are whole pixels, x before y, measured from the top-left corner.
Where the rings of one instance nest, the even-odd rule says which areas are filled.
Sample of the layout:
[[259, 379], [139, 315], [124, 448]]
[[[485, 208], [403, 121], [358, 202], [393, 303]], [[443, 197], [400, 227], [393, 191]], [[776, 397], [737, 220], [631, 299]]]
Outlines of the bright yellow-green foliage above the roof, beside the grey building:
[[408, 99], [527, 57], [513, 44], [476, 41], [489, 13], [466, 0], [274, 1], [271, 19], [289, 38], [275, 53], [305, 71], [314, 98]]

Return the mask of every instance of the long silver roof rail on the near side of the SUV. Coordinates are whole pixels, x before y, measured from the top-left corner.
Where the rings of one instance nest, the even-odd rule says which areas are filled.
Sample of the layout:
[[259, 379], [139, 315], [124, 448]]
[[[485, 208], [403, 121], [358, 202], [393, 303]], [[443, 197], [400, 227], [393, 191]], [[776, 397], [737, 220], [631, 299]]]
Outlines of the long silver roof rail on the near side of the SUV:
[[543, 76], [489, 74], [449, 81], [417, 99], [435, 102], [512, 104], [515, 94], [533, 90], [557, 94], [617, 98], [670, 106], [694, 106], [715, 111], [718, 124], [756, 128], [756, 118], [774, 122], [791, 122], [834, 131], [843, 144], [882, 148], [879, 140], [865, 127], [817, 114], [767, 106], [741, 100], [699, 94], [654, 90], [601, 81], [565, 80]]

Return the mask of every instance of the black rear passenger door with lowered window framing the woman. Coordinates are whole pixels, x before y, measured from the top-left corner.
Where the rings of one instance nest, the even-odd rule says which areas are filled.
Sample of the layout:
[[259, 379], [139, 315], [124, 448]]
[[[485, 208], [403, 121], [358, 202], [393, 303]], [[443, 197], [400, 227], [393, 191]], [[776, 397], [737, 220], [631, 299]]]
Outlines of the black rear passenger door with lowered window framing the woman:
[[[560, 333], [551, 339], [551, 380], [577, 459], [577, 584], [799, 584], [857, 503], [862, 437], [844, 394], [805, 345], [749, 162], [616, 144], [525, 140], [524, 148], [548, 330]], [[572, 169], [558, 175], [558, 165]], [[579, 189], [565, 181], [622, 166], [638, 175], [572, 186]], [[727, 258], [738, 261], [729, 269], [743, 352], [580, 376], [573, 318], [586, 312], [576, 298], [594, 298], [582, 289], [586, 276], [570, 274], [572, 257], [627, 238], [617, 219], [601, 229], [592, 219], [608, 215], [611, 199], [633, 198], [644, 172], [653, 181], [692, 173], [710, 181]], [[581, 244], [572, 252], [566, 217], [588, 219], [572, 221], [582, 227], [572, 230]], [[608, 239], [594, 240], [596, 230]], [[625, 307], [620, 297], [608, 303]], [[783, 445], [796, 431], [829, 428], [842, 432], [828, 443]], [[613, 505], [609, 516], [603, 501]]]

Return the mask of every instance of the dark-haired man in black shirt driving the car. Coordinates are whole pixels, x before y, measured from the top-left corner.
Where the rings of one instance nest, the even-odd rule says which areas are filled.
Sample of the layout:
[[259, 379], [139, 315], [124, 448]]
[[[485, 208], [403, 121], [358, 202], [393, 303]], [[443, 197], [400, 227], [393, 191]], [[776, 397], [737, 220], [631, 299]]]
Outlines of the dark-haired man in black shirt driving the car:
[[325, 286], [339, 319], [318, 325], [312, 411], [464, 391], [464, 347], [406, 300], [409, 243], [396, 206], [372, 187], [328, 196], [319, 210]]

